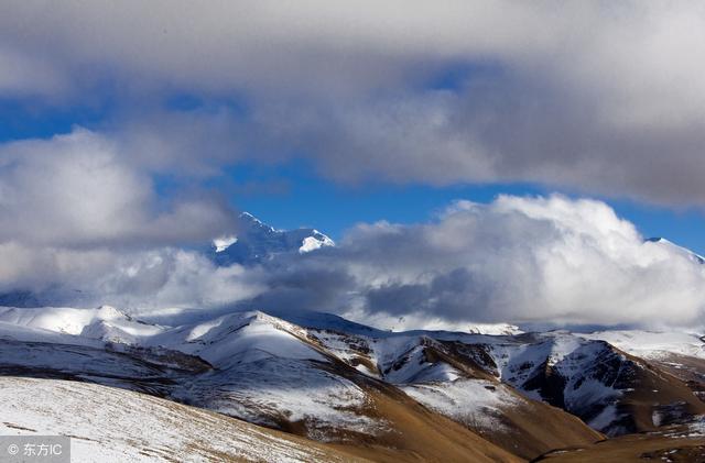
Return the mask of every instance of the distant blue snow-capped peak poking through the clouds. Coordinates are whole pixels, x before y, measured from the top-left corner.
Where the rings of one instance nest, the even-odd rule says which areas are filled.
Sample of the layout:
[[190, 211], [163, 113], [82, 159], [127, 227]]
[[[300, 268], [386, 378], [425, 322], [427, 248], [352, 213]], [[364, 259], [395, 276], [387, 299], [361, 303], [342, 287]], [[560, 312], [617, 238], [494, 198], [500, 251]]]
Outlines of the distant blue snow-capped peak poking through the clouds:
[[219, 265], [253, 264], [278, 254], [305, 254], [334, 241], [315, 229], [276, 230], [249, 212], [239, 216], [237, 234], [213, 241], [208, 255]]

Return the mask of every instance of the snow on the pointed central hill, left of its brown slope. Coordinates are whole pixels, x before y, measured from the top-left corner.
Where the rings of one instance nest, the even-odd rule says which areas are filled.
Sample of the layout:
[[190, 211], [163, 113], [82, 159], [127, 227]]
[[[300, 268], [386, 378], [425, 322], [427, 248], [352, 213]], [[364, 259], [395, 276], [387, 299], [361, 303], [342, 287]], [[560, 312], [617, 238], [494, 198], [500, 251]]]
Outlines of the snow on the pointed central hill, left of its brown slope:
[[332, 429], [383, 429], [364, 415], [369, 399], [362, 389], [321, 367], [329, 360], [304, 341], [306, 334], [263, 312], [236, 312], [166, 330], [148, 345], [198, 355], [216, 367], [174, 390], [176, 399], [267, 426], [305, 421], [318, 440], [329, 439]]

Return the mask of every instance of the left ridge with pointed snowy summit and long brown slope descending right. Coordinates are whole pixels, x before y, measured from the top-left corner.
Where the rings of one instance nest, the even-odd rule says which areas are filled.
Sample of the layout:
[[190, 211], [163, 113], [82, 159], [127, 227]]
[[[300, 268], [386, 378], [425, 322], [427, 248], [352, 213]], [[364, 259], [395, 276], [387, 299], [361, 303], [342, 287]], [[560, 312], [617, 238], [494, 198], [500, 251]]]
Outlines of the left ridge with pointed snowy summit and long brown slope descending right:
[[[37, 319], [44, 320], [43, 329], [30, 327]], [[131, 338], [135, 344], [102, 346], [102, 332], [87, 329], [95, 317], [86, 313], [77, 319], [86, 323], [73, 328], [82, 335], [62, 333], [66, 320], [61, 317], [35, 312], [18, 319], [25, 326], [18, 326], [14, 340], [4, 331], [0, 370], [147, 392], [337, 442], [376, 461], [517, 461], [398, 388], [345, 364], [311, 342], [303, 328], [261, 312], [237, 312], [186, 327], [152, 327], [159, 333], [142, 330], [142, 335]], [[54, 327], [50, 320], [55, 320]]]

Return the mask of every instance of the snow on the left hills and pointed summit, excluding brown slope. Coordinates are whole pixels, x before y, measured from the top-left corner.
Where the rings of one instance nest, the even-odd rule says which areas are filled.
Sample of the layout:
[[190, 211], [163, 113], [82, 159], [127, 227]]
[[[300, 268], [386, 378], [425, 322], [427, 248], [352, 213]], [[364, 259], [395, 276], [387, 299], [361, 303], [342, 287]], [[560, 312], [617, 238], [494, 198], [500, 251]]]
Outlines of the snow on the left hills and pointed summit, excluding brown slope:
[[[152, 350], [169, 349], [198, 355], [214, 367], [182, 377], [188, 363], [173, 364], [171, 366], [182, 370], [170, 371], [169, 362], [193, 361], [175, 357], [170, 351], [161, 356], [161, 351], [137, 348], [113, 352], [107, 350], [104, 342], [91, 339], [102, 339], [106, 334], [97, 331], [106, 326], [95, 322], [80, 329], [82, 323], [96, 319], [94, 312], [61, 311], [69, 316], [68, 321], [75, 324], [73, 331], [80, 330], [80, 337], [21, 324], [13, 331], [9, 323], [0, 322], [0, 334], [6, 333], [3, 338], [9, 339], [0, 341], [3, 366], [155, 392], [272, 427], [281, 426], [283, 421], [304, 421], [307, 432], [319, 440], [329, 439], [330, 430], [375, 434], [386, 429], [382, 420], [365, 415], [370, 407], [367, 394], [349, 379], [328, 372], [333, 367], [330, 360], [306, 341], [304, 329], [292, 323], [259, 311], [236, 312], [194, 326], [147, 326], [144, 331], [154, 334], [131, 340], [122, 337], [116, 341], [119, 344], [110, 348], [138, 341], [139, 345]], [[54, 317], [56, 310], [48, 308], [43, 313], [37, 309], [31, 317], [13, 315], [12, 319], [32, 324], [28, 320], [46, 320], [51, 318], [47, 313]], [[80, 323], [75, 323], [76, 320]], [[41, 324], [59, 330], [68, 321]], [[159, 378], [169, 382], [162, 384]]]

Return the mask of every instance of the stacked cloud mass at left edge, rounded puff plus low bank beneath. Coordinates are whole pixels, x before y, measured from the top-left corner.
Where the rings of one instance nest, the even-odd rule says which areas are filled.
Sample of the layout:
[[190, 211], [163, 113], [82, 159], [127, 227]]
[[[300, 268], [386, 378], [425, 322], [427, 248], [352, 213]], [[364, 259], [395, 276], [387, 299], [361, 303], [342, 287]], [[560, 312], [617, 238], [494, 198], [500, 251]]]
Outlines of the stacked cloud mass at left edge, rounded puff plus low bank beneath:
[[173, 145], [111, 135], [75, 128], [0, 144], [4, 304], [210, 307], [254, 296], [256, 272], [188, 251], [236, 232], [236, 212], [197, 187], [159, 191], [154, 174], [174, 170], [152, 163]]

